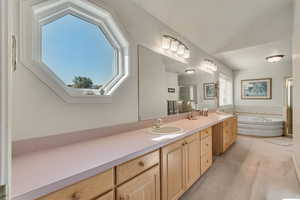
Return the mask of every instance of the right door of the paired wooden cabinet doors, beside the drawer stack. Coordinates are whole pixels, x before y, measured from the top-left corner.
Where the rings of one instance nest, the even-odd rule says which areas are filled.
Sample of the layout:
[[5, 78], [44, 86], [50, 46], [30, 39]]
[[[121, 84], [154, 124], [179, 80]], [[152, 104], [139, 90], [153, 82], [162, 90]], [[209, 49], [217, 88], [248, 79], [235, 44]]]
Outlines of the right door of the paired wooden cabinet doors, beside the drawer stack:
[[192, 135], [185, 139], [186, 187], [190, 187], [201, 175], [200, 136]]

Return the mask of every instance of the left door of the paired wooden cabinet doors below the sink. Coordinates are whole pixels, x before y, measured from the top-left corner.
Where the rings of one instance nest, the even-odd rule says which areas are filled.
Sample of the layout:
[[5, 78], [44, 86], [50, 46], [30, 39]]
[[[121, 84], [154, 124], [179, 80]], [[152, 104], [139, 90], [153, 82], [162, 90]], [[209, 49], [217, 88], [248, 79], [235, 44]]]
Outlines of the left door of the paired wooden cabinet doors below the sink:
[[184, 140], [162, 148], [162, 199], [176, 200], [185, 191]]

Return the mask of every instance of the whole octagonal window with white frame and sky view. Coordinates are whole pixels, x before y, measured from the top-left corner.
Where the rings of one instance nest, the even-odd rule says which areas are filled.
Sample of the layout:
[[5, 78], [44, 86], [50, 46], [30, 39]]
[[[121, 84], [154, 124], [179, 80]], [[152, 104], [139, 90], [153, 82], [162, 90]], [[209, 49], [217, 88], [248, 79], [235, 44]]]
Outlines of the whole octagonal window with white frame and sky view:
[[68, 103], [112, 102], [130, 55], [112, 13], [85, 0], [21, 2], [21, 62]]

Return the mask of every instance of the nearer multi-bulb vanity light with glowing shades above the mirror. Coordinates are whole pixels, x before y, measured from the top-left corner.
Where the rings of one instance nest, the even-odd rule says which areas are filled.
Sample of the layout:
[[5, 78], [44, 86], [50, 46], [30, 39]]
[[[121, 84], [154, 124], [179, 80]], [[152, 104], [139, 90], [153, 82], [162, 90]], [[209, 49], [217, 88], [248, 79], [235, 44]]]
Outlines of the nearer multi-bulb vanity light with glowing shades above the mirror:
[[177, 53], [178, 56], [182, 56], [183, 58], [190, 58], [190, 50], [187, 46], [172, 36], [163, 36], [162, 48]]

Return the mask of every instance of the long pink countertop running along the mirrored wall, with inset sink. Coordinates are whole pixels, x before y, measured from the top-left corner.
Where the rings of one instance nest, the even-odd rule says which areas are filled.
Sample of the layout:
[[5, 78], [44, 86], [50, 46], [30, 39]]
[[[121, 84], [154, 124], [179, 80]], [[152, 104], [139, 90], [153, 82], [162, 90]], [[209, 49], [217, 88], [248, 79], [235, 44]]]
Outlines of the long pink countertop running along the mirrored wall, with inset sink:
[[232, 115], [212, 113], [209, 117], [168, 124], [183, 128], [183, 134], [159, 136], [151, 134], [146, 128], [15, 157], [12, 161], [12, 199], [36, 199], [229, 117]]

